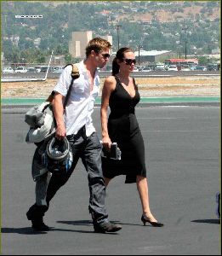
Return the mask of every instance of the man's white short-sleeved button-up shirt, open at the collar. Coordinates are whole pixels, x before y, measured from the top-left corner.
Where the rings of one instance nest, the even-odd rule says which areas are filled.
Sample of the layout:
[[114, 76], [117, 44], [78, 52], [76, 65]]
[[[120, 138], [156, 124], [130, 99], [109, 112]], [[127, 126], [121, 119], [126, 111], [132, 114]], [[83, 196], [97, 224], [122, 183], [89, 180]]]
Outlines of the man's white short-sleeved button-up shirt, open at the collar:
[[[94, 101], [100, 90], [100, 79], [96, 70], [94, 76], [94, 89], [90, 92], [88, 74], [83, 61], [76, 64], [80, 77], [74, 80], [71, 95], [65, 107], [65, 127], [66, 135], [77, 134], [80, 128], [85, 125], [86, 136], [89, 137], [94, 131], [93, 119]], [[71, 84], [71, 65], [65, 67], [60, 74], [60, 79], [54, 87], [54, 91], [66, 96]]]

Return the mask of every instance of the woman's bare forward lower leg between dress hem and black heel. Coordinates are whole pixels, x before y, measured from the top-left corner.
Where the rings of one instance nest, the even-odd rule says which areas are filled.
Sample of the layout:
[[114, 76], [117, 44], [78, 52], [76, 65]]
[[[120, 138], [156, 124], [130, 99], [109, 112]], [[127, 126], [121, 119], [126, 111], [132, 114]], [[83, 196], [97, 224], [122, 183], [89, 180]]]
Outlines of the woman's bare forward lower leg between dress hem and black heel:
[[151, 222], [157, 222], [157, 219], [154, 218], [154, 216], [151, 213], [151, 209], [150, 209], [147, 178], [137, 175], [136, 184], [137, 184], [139, 198], [140, 198], [142, 209], [143, 209], [143, 214], [147, 218], [149, 218], [149, 220]]

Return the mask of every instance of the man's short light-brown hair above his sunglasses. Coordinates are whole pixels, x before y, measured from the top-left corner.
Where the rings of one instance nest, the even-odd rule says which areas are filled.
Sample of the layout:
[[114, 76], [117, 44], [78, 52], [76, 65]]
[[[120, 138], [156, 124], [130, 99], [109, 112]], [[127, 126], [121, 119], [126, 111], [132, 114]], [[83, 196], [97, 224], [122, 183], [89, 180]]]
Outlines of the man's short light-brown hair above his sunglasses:
[[91, 51], [99, 53], [101, 50], [111, 49], [111, 43], [103, 38], [93, 38], [88, 42], [86, 47], [86, 57], [91, 54]]

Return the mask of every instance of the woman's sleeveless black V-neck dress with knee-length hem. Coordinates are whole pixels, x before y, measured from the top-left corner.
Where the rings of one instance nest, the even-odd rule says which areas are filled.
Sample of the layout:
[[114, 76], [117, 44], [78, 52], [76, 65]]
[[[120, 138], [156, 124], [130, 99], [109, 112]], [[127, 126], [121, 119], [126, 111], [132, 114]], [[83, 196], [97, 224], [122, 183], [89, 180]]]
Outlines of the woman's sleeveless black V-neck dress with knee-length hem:
[[146, 177], [145, 146], [135, 116], [135, 106], [140, 100], [138, 87], [134, 81], [135, 96], [124, 89], [115, 77], [116, 89], [111, 92], [108, 132], [112, 143], [117, 143], [122, 151], [121, 160], [102, 158], [104, 177], [126, 175], [125, 183], [135, 183], [136, 175]]

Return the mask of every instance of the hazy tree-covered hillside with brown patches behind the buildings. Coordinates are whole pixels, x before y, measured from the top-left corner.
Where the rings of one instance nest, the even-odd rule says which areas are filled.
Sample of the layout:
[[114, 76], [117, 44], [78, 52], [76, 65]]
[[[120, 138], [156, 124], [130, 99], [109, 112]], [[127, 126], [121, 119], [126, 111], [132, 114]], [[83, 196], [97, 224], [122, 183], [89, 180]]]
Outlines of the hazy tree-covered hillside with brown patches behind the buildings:
[[55, 54], [67, 55], [71, 32], [88, 30], [94, 36], [111, 35], [114, 51], [118, 37], [120, 46], [135, 50], [141, 46], [183, 53], [185, 40], [190, 55], [212, 54], [220, 48], [218, 1], [2, 1], [1, 8], [2, 50], [14, 62], [22, 51], [30, 55], [28, 49], [39, 49], [43, 55], [54, 49]]

